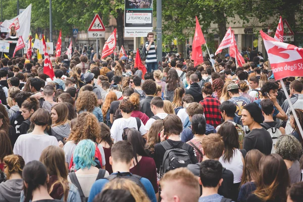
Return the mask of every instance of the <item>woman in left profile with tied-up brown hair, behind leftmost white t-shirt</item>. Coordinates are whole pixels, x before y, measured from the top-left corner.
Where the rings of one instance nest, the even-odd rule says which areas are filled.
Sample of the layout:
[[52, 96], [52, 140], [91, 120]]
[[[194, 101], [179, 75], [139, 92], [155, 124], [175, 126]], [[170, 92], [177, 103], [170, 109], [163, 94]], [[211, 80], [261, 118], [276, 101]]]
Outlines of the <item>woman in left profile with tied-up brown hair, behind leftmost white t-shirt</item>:
[[21, 105], [21, 115], [24, 120], [19, 127], [20, 135], [26, 134], [30, 126], [30, 117], [39, 108], [39, 102], [35, 97], [27, 98]]

